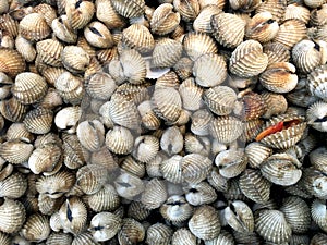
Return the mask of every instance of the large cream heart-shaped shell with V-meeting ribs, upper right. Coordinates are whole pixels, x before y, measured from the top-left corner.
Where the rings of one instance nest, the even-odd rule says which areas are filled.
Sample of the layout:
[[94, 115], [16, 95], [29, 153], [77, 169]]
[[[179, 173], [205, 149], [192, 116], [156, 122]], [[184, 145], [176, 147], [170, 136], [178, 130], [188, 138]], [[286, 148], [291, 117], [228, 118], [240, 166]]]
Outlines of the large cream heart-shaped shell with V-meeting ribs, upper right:
[[230, 72], [241, 76], [258, 75], [268, 65], [268, 57], [263, 52], [262, 45], [256, 40], [246, 40], [239, 45], [230, 58]]

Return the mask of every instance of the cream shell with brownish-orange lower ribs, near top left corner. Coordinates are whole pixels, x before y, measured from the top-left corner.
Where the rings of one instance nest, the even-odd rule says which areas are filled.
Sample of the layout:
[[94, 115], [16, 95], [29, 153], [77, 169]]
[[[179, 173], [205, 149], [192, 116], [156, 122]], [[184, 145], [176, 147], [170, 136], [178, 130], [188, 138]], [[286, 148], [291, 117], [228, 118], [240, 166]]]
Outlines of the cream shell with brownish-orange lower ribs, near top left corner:
[[27, 14], [20, 22], [20, 35], [27, 40], [38, 41], [50, 35], [50, 26], [40, 13]]

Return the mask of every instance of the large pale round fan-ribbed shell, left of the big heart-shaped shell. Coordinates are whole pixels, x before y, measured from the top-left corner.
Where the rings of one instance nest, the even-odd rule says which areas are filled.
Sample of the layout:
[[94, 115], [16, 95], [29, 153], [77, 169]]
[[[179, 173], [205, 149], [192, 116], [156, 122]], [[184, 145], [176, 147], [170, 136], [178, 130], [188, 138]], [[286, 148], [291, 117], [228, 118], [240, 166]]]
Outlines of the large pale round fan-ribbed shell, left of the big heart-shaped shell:
[[203, 54], [194, 62], [193, 75], [196, 83], [203, 87], [217, 86], [227, 77], [226, 62], [218, 54]]

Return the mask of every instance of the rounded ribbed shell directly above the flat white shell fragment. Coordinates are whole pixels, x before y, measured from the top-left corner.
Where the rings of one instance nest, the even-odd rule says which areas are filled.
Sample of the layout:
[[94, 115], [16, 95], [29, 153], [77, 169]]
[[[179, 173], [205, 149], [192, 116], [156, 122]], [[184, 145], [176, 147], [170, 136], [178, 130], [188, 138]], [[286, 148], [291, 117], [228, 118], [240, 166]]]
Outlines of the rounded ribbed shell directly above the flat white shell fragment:
[[155, 68], [173, 66], [182, 56], [182, 45], [170, 38], [160, 39], [153, 51], [153, 65]]

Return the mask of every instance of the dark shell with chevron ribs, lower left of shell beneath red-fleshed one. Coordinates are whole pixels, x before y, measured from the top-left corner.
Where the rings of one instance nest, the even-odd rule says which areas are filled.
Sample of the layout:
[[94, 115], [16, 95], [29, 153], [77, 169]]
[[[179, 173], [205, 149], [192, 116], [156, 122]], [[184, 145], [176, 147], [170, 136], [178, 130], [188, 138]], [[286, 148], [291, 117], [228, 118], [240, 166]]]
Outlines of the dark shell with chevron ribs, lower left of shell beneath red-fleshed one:
[[270, 196], [270, 182], [258, 170], [246, 169], [239, 180], [242, 193], [257, 204], [265, 204]]

